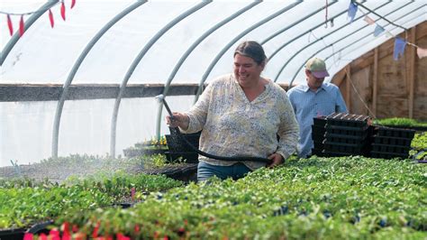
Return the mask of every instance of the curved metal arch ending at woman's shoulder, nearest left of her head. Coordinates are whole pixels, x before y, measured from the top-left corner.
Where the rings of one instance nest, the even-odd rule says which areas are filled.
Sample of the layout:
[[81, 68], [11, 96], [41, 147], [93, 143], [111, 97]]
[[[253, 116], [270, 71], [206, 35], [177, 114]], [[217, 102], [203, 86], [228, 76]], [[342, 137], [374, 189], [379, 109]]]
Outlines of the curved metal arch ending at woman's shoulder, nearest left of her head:
[[270, 21], [271, 19], [277, 17], [280, 14], [283, 14], [285, 12], [287, 12], [289, 9], [295, 7], [295, 5], [299, 5], [303, 3], [302, 0], [297, 0], [295, 1], [295, 3], [291, 4], [291, 5], [287, 5], [286, 7], [280, 9], [279, 11], [277, 11], [274, 14], [269, 15], [268, 17], [264, 18], [263, 20], [259, 21], [258, 23], [253, 24], [252, 26], [250, 26], [250, 28], [246, 29], [245, 31], [241, 32], [239, 35], [237, 35], [236, 37], [234, 37], [232, 39], [231, 42], [229, 42], [222, 51], [220, 51], [216, 57], [213, 59], [213, 61], [211, 62], [211, 64], [209, 65], [209, 67], [206, 69], [206, 71], [204, 71], [204, 75], [202, 77], [202, 80], [199, 83], [199, 87], [197, 89], [197, 93], [195, 94], [195, 102], [197, 101], [198, 97], [200, 96], [200, 94], [202, 93], [202, 87], [204, 84], [204, 81], [206, 80], [206, 78], [209, 76], [209, 74], [211, 73], [213, 67], [216, 65], [216, 63], [218, 62], [218, 60], [221, 59], [221, 57], [223, 57], [223, 54], [225, 53], [225, 51], [228, 51], [231, 47], [232, 44], [234, 44], [235, 42], [237, 42], [238, 40], [241, 39], [241, 37], [243, 37], [244, 35], [246, 35], [248, 32], [251, 32], [252, 30], [254, 30], [255, 28], [259, 27], [260, 25], [267, 23], [268, 21]]

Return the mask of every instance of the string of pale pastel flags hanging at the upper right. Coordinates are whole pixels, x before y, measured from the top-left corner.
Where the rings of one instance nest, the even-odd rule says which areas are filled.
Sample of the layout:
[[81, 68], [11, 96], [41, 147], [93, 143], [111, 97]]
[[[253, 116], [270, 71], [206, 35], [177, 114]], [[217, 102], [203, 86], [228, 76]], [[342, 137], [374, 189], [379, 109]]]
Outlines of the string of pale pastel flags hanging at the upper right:
[[399, 60], [400, 57], [404, 56], [404, 49], [406, 47], [406, 45], [411, 45], [414, 48], [417, 49], [417, 55], [418, 58], [422, 59], [424, 57], [427, 57], [427, 49], [423, 49], [420, 46], [417, 46], [416, 44], [412, 43], [412, 42], [407, 42], [405, 39], [401, 38], [401, 37], [397, 37], [395, 35], [393, 35], [391, 32], [387, 31], [383, 26], [379, 25], [378, 23], [375, 22], [375, 20], [373, 20], [372, 18], [370, 18], [368, 16], [368, 14], [365, 14], [361, 9], [358, 9], [358, 5], [362, 6], [363, 8], [367, 9], [370, 13], [372, 14], [376, 14], [377, 16], [379, 16], [380, 18], [386, 20], [386, 22], [391, 23], [397, 27], [400, 27], [402, 29], [404, 29], [405, 32], [408, 31], [408, 29], [404, 28], [403, 26], [397, 25], [395, 23], [392, 23], [390, 21], [388, 21], [386, 18], [380, 16], [379, 14], [375, 13], [372, 10], [369, 10], [367, 7], [365, 7], [364, 5], [361, 5], [357, 2], [355, 2], [354, 0], [350, 0], [350, 5], [349, 5], [349, 10], [347, 12], [348, 17], [350, 18], [350, 23], [353, 22], [354, 17], [356, 16], [356, 13], [358, 12], [358, 10], [365, 15], [364, 17], [364, 21], [366, 23], [368, 23], [368, 25], [376, 25], [375, 29], [374, 29], [374, 36], [377, 37], [379, 35], [381, 35], [383, 32], [386, 33], [386, 36], [388, 37], [394, 37], [395, 38], [395, 49], [393, 52], [393, 58], [394, 60]]

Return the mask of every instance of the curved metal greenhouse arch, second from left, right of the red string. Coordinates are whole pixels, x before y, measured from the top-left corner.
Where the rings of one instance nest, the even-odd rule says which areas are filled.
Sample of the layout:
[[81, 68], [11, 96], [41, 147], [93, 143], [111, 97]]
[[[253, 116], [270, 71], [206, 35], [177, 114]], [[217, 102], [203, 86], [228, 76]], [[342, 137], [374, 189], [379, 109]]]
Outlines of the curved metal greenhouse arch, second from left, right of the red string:
[[85, 60], [89, 51], [92, 50], [92, 48], [95, 46], [95, 43], [98, 42], [98, 40], [104, 35], [105, 32], [107, 32], [112, 26], [114, 26], [115, 23], [119, 22], [124, 16], [131, 13], [133, 10], [145, 4], [146, 2], [147, 2], [146, 0], [140, 0], [128, 6], [127, 8], [125, 8], [120, 14], [115, 15], [114, 18], [110, 20], [110, 22], [106, 23], [104, 27], [95, 34], [92, 40], [89, 43], [87, 43], [85, 49], [80, 53], [80, 56], [78, 56], [76, 62], [74, 63], [71, 71], [68, 74], [68, 77], [66, 82], [64, 83], [64, 86], [62, 87], [62, 93], [60, 95], [58, 105], [56, 108], [55, 119], [53, 123], [53, 132], [52, 132], [52, 149], [51, 149], [52, 157], [55, 157], [55, 158], [58, 157], [60, 117], [62, 115], [64, 102], [68, 96], [69, 86], [71, 85], [71, 82], [76, 76], [77, 70], [80, 68], [81, 63], [83, 62], [83, 60]]

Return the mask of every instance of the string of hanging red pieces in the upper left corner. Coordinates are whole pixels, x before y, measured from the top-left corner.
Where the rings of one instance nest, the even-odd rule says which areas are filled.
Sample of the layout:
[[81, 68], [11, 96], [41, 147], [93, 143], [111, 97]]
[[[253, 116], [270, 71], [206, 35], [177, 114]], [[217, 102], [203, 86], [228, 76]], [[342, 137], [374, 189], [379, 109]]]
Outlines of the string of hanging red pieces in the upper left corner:
[[[76, 5], [76, 0], [70, 0], [70, 6], [69, 8], [72, 9], [75, 5]], [[66, 21], [66, 6], [64, 3], [64, 0], [59, 1], [57, 4], [60, 3], [60, 16], [62, 18], [63, 21]], [[55, 5], [57, 5], [55, 4]], [[50, 27], [53, 28], [55, 26], [55, 19], [53, 18], [53, 13], [52, 13], [52, 8], [53, 6], [49, 7], [49, 11], [48, 11], [48, 16], [49, 16], [49, 23], [50, 23]], [[19, 36], [22, 37], [23, 36], [23, 32], [25, 32], [25, 22], [24, 22], [24, 16], [25, 15], [31, 15], [31, 14], [35, 14], [35, 13], [40, 13], [40, 12], [46, 12], [46, 10], [48, 9], [39, 9], [37, 11], [33, 11], [33, 12], [27, 12], [27, 13], [20, 13], [20, 14], [16, 14], [16, 13], [7, 13], [7, 12], [3, 12], [0, 11], [0, 14], [5, 14], [6, 15], [6, 22], [7, 22], [7, 28], [9, 29], [9, 33], [11, 36], [14, 35], [14, 23], [12, 21], [12, 15], [20, 15], [21, 18], [19, 20], [19, 25], [18, 25], [18, 32], [19, 32]]]

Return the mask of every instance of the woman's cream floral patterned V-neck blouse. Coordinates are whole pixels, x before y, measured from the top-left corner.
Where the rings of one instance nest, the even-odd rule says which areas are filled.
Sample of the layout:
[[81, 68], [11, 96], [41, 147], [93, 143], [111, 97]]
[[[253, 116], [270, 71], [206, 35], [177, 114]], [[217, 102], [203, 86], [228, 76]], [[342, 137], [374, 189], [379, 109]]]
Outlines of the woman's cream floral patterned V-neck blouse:
[[[299, 128], [286, 91], [272, 81], [259, 97], [249, 101], [233, 74], [213, 80], [186, 114], [190, 118], [183, 133], [203, 129], [199, 148], [210, 154], [267, 158], [277, 152], [284, 159], [295, 152]], [[280, 140], [277, 141], [277, 134]], [[209, 159], [199, 161], [230, 166], [236, 162]], [[243, 162], [250, 170], [265, 162]]]

